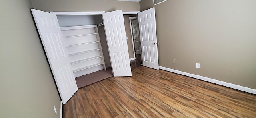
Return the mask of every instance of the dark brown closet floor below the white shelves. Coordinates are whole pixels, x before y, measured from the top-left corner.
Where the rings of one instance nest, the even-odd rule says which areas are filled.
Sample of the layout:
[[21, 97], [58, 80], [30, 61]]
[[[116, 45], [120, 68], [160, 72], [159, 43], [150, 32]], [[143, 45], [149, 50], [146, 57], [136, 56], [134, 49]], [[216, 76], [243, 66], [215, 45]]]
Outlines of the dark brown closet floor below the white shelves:
[[78, 89], [80, 89], [82, 87], [85, 87], [85, 86], [95, 83], [97, 81], [101, 81], [103, 79], [107, 79], [112, 76], [113, 76], [113, 73], [112, 73], [112, 69], [110, 67], [110, 68], [107, 68], [106, 71], [100, 70], [97, 72], [93, 72], [91, 74], [76, 77], [76, 84], [77, 84]]

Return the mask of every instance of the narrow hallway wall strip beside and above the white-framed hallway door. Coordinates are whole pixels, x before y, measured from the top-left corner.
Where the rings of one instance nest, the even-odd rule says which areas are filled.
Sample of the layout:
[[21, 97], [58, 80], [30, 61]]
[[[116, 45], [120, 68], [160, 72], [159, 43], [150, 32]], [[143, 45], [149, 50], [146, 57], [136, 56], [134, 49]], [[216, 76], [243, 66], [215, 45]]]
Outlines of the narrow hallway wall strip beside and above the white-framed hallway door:
[[132, 34], [131, 34], [131, 27], [130, 27], [130, 20], [129, 17], [133, 17], [137, 15], [124, 15], [124, 25], [125, 25], [125, 32], [127, 39], [127, 45], [128, 45], [128, 51], [129, 51], [129, 57], [134, 58], [134, 50], [132, 45]]

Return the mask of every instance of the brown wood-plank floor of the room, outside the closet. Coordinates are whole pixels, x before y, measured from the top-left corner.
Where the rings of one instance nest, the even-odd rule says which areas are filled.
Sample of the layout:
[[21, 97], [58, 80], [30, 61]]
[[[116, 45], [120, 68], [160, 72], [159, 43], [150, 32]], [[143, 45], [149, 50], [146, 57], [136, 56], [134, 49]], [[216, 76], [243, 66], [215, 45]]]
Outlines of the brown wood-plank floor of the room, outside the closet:
[[256, 95], [198, 79], [132, 69], [82, 89], [63, 106], [64, 118], [256, 118]]

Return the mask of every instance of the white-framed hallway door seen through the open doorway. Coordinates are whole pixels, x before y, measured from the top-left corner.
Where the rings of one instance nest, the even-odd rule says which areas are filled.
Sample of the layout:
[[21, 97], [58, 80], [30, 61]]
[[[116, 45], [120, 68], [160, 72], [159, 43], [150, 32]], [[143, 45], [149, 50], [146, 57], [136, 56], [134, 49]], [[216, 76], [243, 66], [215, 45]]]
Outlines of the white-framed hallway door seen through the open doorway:
[[141, 54], [140, 46], [140, 29], [138, 24], [138, 19], [132, 21], [132, 32], [134, 38], [134, 47], [136, 54]]

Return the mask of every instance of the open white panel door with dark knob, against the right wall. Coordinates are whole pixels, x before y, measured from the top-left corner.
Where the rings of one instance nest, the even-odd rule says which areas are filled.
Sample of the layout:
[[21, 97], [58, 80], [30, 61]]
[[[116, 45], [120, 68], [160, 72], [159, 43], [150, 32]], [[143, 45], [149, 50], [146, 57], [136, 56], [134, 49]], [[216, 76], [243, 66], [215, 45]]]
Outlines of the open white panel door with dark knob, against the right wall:
[[138, 20], [143, 66], [158, 70], [155, 8], [138, 13]]

